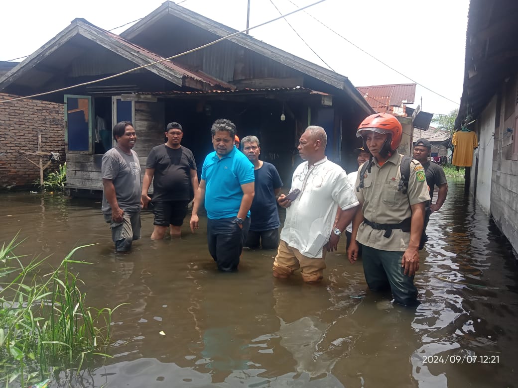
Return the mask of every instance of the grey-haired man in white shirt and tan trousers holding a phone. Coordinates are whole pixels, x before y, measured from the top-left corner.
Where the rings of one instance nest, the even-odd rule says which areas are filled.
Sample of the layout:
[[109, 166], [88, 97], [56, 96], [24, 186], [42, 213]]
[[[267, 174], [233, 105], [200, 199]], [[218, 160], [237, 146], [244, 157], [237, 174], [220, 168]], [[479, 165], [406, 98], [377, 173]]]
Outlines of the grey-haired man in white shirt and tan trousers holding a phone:
[[[277, 202], [286, 208], [281, 242], [274, 261], [274, 276], [287, 278], [300, 268], [305, 282], [323, 278], [326, 251], [337, 249], [343, 230], [359, 205], [347, 173], [325, 156], [324, 128], [310, 126], [300, 137], [302, 159], [293, 173], [291, 190], [300, 192], [294, 200], [281, 194]], [[338, 207], [342, 210], [334, 225]]]

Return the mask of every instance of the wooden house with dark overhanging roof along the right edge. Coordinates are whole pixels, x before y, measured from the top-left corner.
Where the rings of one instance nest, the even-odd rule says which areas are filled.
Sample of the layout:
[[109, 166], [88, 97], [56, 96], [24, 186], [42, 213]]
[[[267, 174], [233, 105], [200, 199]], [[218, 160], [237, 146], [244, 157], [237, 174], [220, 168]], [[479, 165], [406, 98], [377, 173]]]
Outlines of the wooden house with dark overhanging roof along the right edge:
[[518, 2], [471, 0], [461, 107], [475, 131], [469, 189], [518, 250]]

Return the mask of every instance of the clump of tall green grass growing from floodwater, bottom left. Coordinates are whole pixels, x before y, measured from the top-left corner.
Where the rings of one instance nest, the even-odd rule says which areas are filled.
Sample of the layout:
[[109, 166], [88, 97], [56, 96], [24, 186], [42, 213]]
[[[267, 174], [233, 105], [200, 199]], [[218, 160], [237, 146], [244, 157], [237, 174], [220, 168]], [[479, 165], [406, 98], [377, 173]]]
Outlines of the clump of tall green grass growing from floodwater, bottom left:
[[[46, 258], [14, 253], [18, 235], [0, 249], [0, 384], [21, 386], [41, 381], [56, 367], [76, 367], [104, 351], [111, 336], [111, 316], [119, 306], [85, 305], [83, 283], [70, 272], [74, 248], [54, 270]], [[6, 280], [11, 279], [11, 280]], [[6, 281], [4, 281], [6, 280]]]

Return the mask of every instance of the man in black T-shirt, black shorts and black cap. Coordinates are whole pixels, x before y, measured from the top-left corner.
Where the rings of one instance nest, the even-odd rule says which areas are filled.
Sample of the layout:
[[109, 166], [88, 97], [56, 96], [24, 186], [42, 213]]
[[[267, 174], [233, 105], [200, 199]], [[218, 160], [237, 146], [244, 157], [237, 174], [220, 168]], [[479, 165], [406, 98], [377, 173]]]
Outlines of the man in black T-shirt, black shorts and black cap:
[[[146, 173], [142, 182], [142, 203], [153, 206], [154, 230], [151, 238], [164, 238], [167, 228], [171, 237], [179, 237], [187, 205], [198, 189], [198, 174], [193, 153], [180, 145], [182, 126], [167, 124], [167, 142], [153, 147], [146, 162]], [[154, 178], [154, 180], [153, 180]], [[153, 200], [148, 196], [153, 181]], [[150, 202], [151, 201], [151, 202]]]

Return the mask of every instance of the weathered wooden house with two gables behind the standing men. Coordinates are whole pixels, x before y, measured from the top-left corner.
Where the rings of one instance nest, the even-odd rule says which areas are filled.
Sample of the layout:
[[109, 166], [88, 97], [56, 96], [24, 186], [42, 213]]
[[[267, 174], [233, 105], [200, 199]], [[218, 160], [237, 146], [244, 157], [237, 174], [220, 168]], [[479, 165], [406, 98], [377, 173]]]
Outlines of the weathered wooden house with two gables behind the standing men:
[[[354, 166], [346, 156], [359, 143], [357, 125], [373, 110], [347, 77], [247, 34], [179, 55], [235, 32], [172, 2], [120, 36], [76, 19], [5, 74], [0, 90], [30, 96], [67, 88], [36, 98], [65, 104], [71, 195], [102, 189], [102, 155], [122, 120], [135, 124], [142, 167], [172, 121], [182, 124], [182, 144], [201, 167], [218, 118], [232, 120], [239, 137], [257, 136], [263, 160], [287, 184], [308, 125], [325, 128], [329, 159]], [[140, 66], [146, 67], [134, 70]]]

